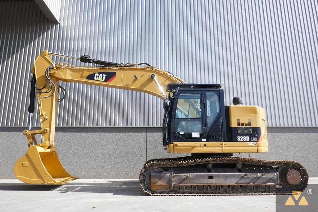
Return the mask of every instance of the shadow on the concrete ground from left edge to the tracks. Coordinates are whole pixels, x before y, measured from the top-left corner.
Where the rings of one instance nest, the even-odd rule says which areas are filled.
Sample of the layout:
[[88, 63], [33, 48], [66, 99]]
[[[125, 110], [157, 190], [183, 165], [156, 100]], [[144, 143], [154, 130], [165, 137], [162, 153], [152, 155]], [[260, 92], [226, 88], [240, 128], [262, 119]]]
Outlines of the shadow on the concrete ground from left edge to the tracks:
[[51, 191], [60, 193], [92, 192], [130, 196], [146, 195], [140, 187], [138, 180], [95, 180], [90, 183], [73, 181], [60, 186], [30, 185], [26, 183], [0, 183], [0, 191]]

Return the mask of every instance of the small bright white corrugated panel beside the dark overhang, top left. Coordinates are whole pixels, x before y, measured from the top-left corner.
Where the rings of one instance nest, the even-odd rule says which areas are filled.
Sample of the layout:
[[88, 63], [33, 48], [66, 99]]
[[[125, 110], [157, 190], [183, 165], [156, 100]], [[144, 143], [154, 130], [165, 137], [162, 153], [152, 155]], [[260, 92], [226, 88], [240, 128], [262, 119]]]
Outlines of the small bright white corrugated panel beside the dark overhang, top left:
[[62, 0], [34, 0], [51, 22], [59, 23]]

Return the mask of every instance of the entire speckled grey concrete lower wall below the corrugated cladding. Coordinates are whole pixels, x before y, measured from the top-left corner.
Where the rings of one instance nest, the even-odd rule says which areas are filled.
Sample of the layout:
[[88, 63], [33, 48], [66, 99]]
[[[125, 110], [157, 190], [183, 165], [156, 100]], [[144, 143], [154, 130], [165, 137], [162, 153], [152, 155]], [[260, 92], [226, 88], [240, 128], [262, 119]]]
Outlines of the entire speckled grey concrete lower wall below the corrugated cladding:
[[[15, 179], [13, 167], [27, 151], [23, 127], [0, 127], [0, 179]], [[182, 157], [162, 147], [160, 127], [58, 127], [56, 150], [68, 172], [81, 179], [137, 179], [154, 158]], [[293, 160], [318, 177], [318, 128], [268, 128], [269, 152], [235, 154], [269, 160]]]

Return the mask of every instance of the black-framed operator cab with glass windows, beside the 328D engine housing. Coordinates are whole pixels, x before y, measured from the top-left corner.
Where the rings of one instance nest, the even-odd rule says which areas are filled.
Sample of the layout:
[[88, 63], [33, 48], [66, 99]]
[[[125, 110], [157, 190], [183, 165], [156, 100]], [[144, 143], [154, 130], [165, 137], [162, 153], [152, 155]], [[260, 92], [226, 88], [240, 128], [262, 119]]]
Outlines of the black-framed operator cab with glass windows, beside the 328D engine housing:
[[220, 84], [169, 84], [167, 91], [170, 92], [170, 102], [163, 123], [163, 145], [174, 142], [226, 140], [222, 86]]

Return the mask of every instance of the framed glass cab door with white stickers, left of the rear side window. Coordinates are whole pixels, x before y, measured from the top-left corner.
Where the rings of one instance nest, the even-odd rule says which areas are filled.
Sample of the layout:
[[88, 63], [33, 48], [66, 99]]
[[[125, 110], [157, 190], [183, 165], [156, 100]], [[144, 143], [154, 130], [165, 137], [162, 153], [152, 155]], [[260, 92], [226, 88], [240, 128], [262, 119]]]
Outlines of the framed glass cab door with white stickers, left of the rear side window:
[[181, 91], [176, 97], [171, 123], [171, 140], [206, 141], [204, 92]]

